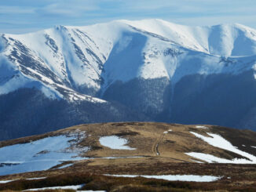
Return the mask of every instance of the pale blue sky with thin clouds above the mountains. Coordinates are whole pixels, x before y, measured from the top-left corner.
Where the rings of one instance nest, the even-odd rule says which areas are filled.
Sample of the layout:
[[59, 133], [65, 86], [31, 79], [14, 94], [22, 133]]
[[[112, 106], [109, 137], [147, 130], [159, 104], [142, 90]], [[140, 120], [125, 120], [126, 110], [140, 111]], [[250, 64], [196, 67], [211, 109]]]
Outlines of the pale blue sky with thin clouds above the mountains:
[[0, 0], [0, 33], [152, 18], [191, 26], [239, 23], [256, 29], [256, 0]]

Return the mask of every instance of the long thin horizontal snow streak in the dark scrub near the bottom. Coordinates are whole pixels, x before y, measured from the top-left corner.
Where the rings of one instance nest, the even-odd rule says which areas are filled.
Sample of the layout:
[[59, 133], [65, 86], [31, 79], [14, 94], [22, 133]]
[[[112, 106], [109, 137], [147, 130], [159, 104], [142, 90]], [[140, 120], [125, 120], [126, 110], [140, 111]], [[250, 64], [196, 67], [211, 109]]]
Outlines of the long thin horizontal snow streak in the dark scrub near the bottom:
[[[105, 175], [105, 176], [117, 176], [117, 177], [137, 177], [133, 175]], [[148, 179], [164, 179], [168, 181], [194, 181], [194, 182], [213, 182], [221, 177], [218, 176], [194, 176], [194, 175], [166, 175], [166, 176], [141, 176]]]

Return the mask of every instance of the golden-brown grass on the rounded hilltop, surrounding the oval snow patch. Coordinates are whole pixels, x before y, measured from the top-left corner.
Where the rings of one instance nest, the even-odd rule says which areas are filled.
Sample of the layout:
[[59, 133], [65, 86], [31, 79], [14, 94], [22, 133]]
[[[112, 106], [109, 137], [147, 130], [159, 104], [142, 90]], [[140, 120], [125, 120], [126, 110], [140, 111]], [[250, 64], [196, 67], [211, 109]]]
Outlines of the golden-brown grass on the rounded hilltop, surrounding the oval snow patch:
[[[90, 147], [90, 151], [83, 154], [84, 157], [110, 157], [110, 156], [159, 156], [170, 158], [173, 162], [192, 162], [191, 157], [186, 152], [200, 152], [212, 154], [219, 158], [244, 158], [239, 154], [234, 154], [227, 150], [210, 146], [202, 139], [196, 138], [190, 131], [198, 132], [208, 136], [207, 132], [218, 133], [229, 139], [231, 143], [241, 150], [256, 155], [256, 150], [251, 146], [256, 146], [256, 133], [251, 131], [240, 131], [218, 126], [207, 125], [209, 129], [196, 129], [195, 125], [177, 125], [153, 122], [122, 122], [122, 123], [101, 123], [90, 125], [76, 125], [68, 129], [60, 129], [56, 132], [49, 132], [40, 136], [30, 136], [20, 139], [13, 139], [0, 142], [0, 147], [16, 143], [28, 143], [46, 136], [58, 136], [69, 132], [86, 132], [86, 139], [77, 143], [80, 147]], [[163, 132], [172, 129], [172, 132]], [[129, 140], [129, 146], [137, 150], [112, 150], [101, 146], [99, 138], [101, 136], [120, 136]], [[241, 148], [241, 143], [247, 147]], [[156, 149], [157, 146], [157, 149]], [[157, 151], [156, 151], [157, 150]]]

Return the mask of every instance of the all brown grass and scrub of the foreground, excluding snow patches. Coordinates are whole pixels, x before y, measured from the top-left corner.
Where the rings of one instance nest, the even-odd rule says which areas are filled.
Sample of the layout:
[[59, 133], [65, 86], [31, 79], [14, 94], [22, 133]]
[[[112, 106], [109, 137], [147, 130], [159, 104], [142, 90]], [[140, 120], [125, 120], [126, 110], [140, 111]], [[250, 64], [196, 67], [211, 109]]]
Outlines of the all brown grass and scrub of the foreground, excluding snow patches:
[[[20, 179], [12, 183], [0, 184], [0, 190], [25, 190], [29, 188], [65, 186], [86, 183], [83, 190], [107, 191], [256, 191], [256, 165], [198, 164], [185, 152], [213, 154], [220, 158], [243, 158], [227, 150], [212, 147], [196, 138], [192, 132], [208, 136], [214, 132], [232, 145], [256, 155], [256, 133], [248, 130], [229, 129], [207, 125], [208, 129], [197, 129], [195, 125], [177, 125], [165, 123], [124, 122], [92, 125], [77, 125], [41, 136], [14, 139], [0, 143], [7, 146], [14, 143], [27, 143], [46, 136], [57, 136], [70, 132], [86, 132], [86, 138], [77, 143], [79, 147], [90, 147], [90, 151], [81, 154], [90, 159], [74, 161], [74, 165], [42, 172], [27, 172], [2, 179]], [[172, 130], [164, 134], [168, 130]], [[137, 150], [112, 150], [101, 146], [101, 136], [120, 136], [129, 140], [128, 145]], [[243, 146], [245, 145], [245, 147]], [[159, 155], [157, 155], [159, 153]], [[140, 156], [141, 158], [102, 157]], [[93, 159], [92, 159], [93, 158]], [[64, 164], [68, 164], [64, 162]], [[64, 165], [63, 164], [63, 165]], [[103, 174], [130, 175], [209, 175], [222, 176], [216, 182], [169, 182], [159, 179], [116, 178]], [[46, 179], [25, 180], [44, 177]], [[45, 190], [46, 191], [46, 190]], [[53, 191], [53, 190], [48, 190]], [[57, 190], [54, 190], [57, 191]], [[63, 191], [63, 190], [62, 190]], [[67, 190], [64, 190], [67, 191]]]

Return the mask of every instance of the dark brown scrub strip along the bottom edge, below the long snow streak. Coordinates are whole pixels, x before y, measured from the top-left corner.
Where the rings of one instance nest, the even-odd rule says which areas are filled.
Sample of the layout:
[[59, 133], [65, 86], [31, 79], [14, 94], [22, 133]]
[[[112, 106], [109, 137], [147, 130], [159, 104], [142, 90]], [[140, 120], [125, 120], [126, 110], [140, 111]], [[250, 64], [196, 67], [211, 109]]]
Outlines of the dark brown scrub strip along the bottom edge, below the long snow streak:
[[[216, 168], [216, 167], [215, 167]], [[85, 184], [80, 190], [106, 191], [256, 191], [254, 182], [216, 181], [211, 183], [166, 181], [162, 179], [122, 178], [86, 173], [62, 174], [46, 179], [20, 179], [0, 185], [0, 190], [26, 190], [40, 187]], [[57, 190], [42, 190], [57, 191]], [[59, 190], [61, 191], [61, 190]], [[67, 191], [67, 190], [62, 190]], [[72, 190], [68, 190], [72, 191]]]

